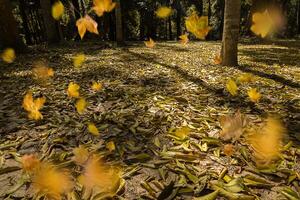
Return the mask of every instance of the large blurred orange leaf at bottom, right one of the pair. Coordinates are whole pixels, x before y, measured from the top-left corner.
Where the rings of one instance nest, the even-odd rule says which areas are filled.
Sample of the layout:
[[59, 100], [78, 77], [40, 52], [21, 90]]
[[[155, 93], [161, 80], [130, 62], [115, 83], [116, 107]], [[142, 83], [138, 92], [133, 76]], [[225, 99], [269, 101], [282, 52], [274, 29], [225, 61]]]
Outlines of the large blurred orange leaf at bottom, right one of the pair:
[[116, 186], [120, 183], [120, 170], [105, 165], [100, 158], [92, 156], [84, 167], [83, 174], [78, 178], [88, 190], [96, 190], [98, 192], [111, 193], [116, 190]]

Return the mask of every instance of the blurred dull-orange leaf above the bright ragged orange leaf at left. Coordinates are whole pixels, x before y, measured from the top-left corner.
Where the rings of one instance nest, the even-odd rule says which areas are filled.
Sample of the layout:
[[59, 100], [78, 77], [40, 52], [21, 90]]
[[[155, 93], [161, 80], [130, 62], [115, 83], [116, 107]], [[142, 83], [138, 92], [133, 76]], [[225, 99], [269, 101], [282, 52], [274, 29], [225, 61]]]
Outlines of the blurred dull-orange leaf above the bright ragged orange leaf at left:
[[47, 67], [45, 63], [36, 62], [32, 69], [32, 74], [35, 79], [45, 81], [54, 76], [54, 71], [52, 68]]

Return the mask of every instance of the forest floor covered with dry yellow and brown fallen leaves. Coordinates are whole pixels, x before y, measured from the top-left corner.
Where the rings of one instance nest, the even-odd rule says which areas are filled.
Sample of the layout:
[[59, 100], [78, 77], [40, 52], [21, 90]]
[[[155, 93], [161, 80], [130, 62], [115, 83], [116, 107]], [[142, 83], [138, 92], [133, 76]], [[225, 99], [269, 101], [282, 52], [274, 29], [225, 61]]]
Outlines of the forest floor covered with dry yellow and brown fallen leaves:
[[[287, 186], [299, 191], [300, 41], [243, 41], [239, 67], [214, 64], [220, 42], [162, 42], [153, 49], [129, 44], [36, 47], [13, 64], [0, 63], [0, 199], [31, 196], [28, 185], [20, 184], [20, 156], [36, 153], [72, 169], [72, 149], [80, 144], [122, 167], [126, 184], [119, 199], [192, 199], [215, 190], [213, 181], [221, 182], [224, 175], [240, 177], [239, 184], [247, 186], [238, 194], [261, 199], [285, 199]], [[87, 57], [79, 69], [72, 66], [77, 53]], [[32, 79], [38, 60], [55, 71], [47, 85]], [[243, 73], [253, 74], [255, 81], [240, 85], [233, 97], [226, 82]], [[92, 81], [103, 83], [103, 89], [91, 91]], [[88, 101], [82, 115], [67, 96], [70, 82], [80, 85]], [[259, 103], [249, 100], [250, 87], [262, 94]], [[41, 121], [29, 120], [22, 108], [28, 90], [46, 97]], [[267, 114], [283, 120], [288, 130], [284, 143], [293, 145], [275, 169], [255, 167], [243, 136], [234, 143], [233, 155], [224, 155], [223, 146], [230, 142], [219, 137], [219, 118], [237, 110], [254, 125]], [[87, 122], [95, 123], [100, 136], [88, 132]], [[172, 130], [184, 126], [191, 133], [176, 140]], [[106, 149], [109, 141], [115, 151]], [[237, 194], [232, 192], [220, 196]]]

